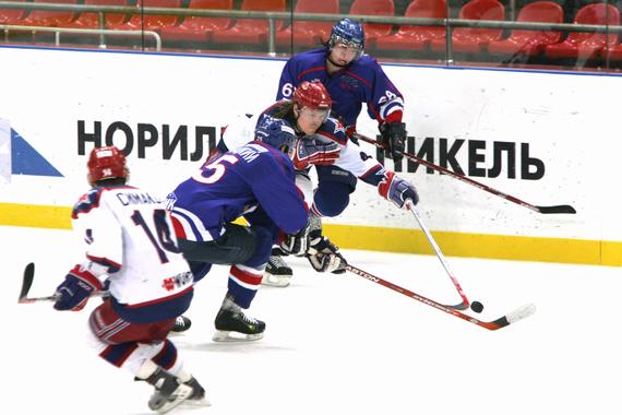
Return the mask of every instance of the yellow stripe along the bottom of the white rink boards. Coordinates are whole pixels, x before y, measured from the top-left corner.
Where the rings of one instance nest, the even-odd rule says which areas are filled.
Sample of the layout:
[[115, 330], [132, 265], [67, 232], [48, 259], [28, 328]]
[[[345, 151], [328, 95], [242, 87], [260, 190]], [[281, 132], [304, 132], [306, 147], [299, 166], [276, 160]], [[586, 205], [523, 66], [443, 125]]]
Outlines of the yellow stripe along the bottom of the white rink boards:
[[[243, 221], [237, 221], [243, 224]], [[0, 203], [0, 225], [71, 229], [71, 208]], [[419, 229], [325, 224], [342, 249], [434, 254]], [[432, 230], [445, 256], [622, 266], [622, 242]]]

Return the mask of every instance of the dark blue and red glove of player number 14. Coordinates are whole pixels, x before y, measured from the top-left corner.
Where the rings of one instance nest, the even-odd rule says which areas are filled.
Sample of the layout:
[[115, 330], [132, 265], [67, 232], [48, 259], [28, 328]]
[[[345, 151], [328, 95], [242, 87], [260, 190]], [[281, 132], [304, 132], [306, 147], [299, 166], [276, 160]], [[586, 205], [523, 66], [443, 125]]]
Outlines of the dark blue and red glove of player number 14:
[[87, 270], [75, 265], [64, 281], [56, 288], [53, 308], [57, 310], [80, 311], [86, 306], [88, 297], [103, 288], [101, 282]]

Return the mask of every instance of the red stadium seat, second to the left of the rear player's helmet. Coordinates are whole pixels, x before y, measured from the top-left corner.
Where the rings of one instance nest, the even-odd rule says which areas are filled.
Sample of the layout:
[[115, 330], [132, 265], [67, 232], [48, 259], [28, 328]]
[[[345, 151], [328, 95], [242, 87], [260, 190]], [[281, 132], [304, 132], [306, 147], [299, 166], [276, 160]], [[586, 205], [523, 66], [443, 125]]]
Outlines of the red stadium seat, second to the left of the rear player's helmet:
[[[243, 0], [241, 10], [262, 12], [285, 11], [285, 0]], [[279, 29], [283, 22], [276, 22]], [[261, 45], [267, 42], [268, 22], [266, 19], [240, 19], [226, 29], [214, 29], [211, 40], [217, 44]]]

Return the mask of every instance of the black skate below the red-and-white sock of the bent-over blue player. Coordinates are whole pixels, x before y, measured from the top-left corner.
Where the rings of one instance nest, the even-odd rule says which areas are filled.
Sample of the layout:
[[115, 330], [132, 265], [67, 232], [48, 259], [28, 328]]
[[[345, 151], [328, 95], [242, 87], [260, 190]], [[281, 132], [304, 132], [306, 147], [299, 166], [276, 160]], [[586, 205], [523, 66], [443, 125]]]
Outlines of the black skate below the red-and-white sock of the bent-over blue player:
[[212, 337], [215, 342], [250, 342], [263, 337], [265, 323], [248, 317], [240, 306], [229, 297], [225, 298], [223, 307], [214, 321], [216, 332]]

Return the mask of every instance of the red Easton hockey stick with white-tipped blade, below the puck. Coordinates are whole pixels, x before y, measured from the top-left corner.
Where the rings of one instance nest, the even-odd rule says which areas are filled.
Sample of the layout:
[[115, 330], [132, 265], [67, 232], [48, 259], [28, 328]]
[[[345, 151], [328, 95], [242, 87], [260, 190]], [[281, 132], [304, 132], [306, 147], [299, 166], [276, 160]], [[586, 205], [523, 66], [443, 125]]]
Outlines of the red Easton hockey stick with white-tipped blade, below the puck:
[[404, 294], [407, 297], [410, 298], [415, 298], [417, 301], [423, 303], [430, 307], [433, 307], [438, 310], [441, 311], [445, 311], [447, 315], [452, 315], [454, 317], [457, 317], [458, 319], [468, 321], [469, 323], [473, 324], [477, 324], [481, 328], [488, 329], [488, 330], [499, 330], [502, 329], [506, 325], [510, 324], [514, 324], [515, 322], [526, 319], [527, 317], [531, 316], [534, 312], [536, 312], [536, 306], [534, 304], [527, 304], [523, 307], [517, 308], [516, 310], [509, 312], [507, 315], [498, 318], [497, 320], [493, 321], [481, 321], [478, 320], [474, 317], [467, 316], [464, 312], [460, 312], [456, 309], [453, 309], [451, 307], [447, 306], [443, 306], [440, 303], [436, 303], [434, 300], [431, 300], [427, 297], [423, 297], [422, 295], [419, 295], [417, 293], [414, 293], [409, 289], [403, 288], [399, 285], [393, 284], [392, 282], [388, 282], [386, 280], [382, 280], [381, 277], [374, 276], [368, 272], [364, 272], [363, 270], [360, 270], [356, 266], [352, 265], [346, 265], [346, 270], [351, 272], [352, 274], [356, 274], [358, 276], [362, 276], [366, 280], [369, 280], [373, 283], [376, 283], [379, 285], [385, 286], [390, 289], [393, 289], [394, 292]]

